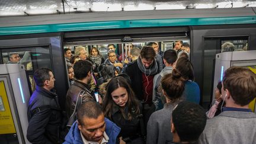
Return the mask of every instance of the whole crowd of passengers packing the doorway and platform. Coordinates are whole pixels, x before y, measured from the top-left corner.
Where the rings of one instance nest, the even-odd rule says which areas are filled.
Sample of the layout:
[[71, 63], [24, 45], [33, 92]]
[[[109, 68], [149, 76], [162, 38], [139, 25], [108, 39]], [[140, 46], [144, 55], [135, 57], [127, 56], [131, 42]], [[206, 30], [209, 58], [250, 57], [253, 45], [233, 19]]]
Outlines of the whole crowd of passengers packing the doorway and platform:
[[[189, 45], [176, 41], [129, 46], [108, 57], [96, 47], [65, 49], [70, 87], [65, 110], [54, 90], [54, 73], [34, 72], [36, 90], [28, 107], [31, 143], [256, 143], [256, 75], [233, 66], [224, 73], [209, 110], [200, 105]], [[121, 61], [120, 61], [121, 60]], [[55, 73], [56, 75], [57, 73]], [[60, 90], [60, 89], [58, 89]]]

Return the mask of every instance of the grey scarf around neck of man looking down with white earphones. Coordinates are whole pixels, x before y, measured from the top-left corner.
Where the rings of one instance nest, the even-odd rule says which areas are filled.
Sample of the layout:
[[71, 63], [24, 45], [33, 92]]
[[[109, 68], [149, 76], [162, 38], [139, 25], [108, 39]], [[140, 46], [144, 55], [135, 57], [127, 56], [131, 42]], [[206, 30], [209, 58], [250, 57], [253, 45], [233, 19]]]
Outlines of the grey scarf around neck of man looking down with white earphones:
[[155, 59], [153, 60], [153, 63], [151, 64], [151, 66], [149, 68], [145, 68], [142, 64], [142, 60], [139, 57], [137, 59], [137, 65], [138, 65], [140, 71], [145, 73], [146, 76], [155, 75], [158, 72], [158, 64], [156, 63]]

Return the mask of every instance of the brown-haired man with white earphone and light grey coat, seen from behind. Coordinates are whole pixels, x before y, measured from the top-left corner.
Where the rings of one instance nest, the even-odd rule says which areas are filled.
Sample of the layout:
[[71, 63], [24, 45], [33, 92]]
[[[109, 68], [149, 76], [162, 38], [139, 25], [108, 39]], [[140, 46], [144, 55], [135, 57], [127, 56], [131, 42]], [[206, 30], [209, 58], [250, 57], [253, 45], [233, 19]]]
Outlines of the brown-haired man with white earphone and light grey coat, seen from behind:
[[222, 81], [222, 113], [207, 120], [200, 143], [256, 143], [256, 114], [249, 103], [256, 97], [256, 75], [246, 67], [232, 66]]

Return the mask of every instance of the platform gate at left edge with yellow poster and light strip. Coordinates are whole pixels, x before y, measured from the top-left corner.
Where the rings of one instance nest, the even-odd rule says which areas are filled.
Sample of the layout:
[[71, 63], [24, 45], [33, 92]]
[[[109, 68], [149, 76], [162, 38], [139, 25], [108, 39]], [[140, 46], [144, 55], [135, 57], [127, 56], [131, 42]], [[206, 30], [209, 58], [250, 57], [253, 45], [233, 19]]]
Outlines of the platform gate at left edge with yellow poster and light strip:
[[0, 142], [28, 142], [27, 107], [30, 99], [23, 65], [0, 65]]

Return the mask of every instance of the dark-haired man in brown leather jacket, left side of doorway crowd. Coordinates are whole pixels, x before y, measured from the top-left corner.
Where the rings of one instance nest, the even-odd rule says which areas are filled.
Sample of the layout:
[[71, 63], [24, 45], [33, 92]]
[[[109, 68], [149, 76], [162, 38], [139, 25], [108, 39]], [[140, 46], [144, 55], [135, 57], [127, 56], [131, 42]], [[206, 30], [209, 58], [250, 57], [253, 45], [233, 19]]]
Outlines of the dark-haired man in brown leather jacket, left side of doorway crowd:
[[69, 87], [66, 94], [66, 113], [68, 117], [74, 111], [76, 100], [81, 93], [82, 103], [88, 100], [96, 101], [94, 91], [90, 90], [89, 84], [92, 79], [92, 64], [88, 60], [79, 60], [73, 66], [76, 80]]

